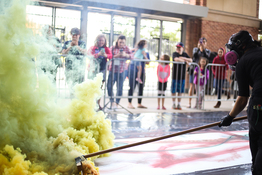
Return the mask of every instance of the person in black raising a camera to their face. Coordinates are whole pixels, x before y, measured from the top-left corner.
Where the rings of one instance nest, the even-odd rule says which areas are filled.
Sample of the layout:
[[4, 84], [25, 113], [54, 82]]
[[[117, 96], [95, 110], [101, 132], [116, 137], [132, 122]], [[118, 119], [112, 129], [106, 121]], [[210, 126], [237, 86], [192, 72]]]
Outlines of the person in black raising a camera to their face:
[[[197, 47], [193, 48], [193, 62], [198, 63], [201, 57], [205, 57], [210, 63], [212, 63], [213, 60], [210, 60], [210, 54], [211, 51], [206, 48], [207, 47], [207, 39], [206, 38], [200, 38], [197, 44]], [[194, 90], [193, 90], [193, 81], [194, 81], [194, 70], [196, 66], [191, 65], [188, 68], [189, 73], [189, 96], [192, 96]], [[191, 100], [192, 98], [189, 98], [189, 105], [188, 108], [191, 108]]]

